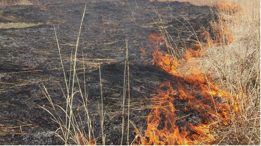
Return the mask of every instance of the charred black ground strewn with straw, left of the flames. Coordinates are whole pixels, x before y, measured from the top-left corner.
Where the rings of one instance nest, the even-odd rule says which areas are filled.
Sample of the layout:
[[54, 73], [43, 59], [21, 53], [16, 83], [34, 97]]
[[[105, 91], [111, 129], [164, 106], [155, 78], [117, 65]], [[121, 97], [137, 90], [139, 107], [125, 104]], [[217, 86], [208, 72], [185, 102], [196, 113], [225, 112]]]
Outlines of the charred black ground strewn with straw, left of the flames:
[[[54, 26], [68, 79], [71, 53], [74, 54], [75, 51], [85, 2], [50, 2], [43, 0], [41, 6], [0, 7], [3, 11], [0, 22], [43, 23], [27, 28], [0, 29], [0, 144], [64, 144], [60, 138], [49, 133], [54, 132], [58, 125], [51, 120], [47, 111], [39, 107], [51, 107], [41, 88], [43, 85], [47, 88], [53, 103], [65, 107], [66, 99], [63, 98], [62, 89], [65, 91], [66, 84]], [[190, 37], [191, 40], [188, 39], [193, 29], [195, 33], [200, 34], [201, 30], [208, 29], [209, 21], [212, 19], [210, 7], [199, 7], [189, 3], [147, 0], [87, 2], [76, 72], [82, 90], [84, 82], [86, 84], [89, 115], [94, 121], [98, 143], [102, 143], [99, 118], [101, 105], [98, 107], [98, 104], [101, 104], [98, 64], [101, 64], [102, 96], [106, 109], [105, 144], [117, 145], [121, 143], [126, 40], [131, 96], [129, 119], [138, 129], [144, 131], [147, 127], [146, 117], [150, 113], [148, 99], [152, 94], [157, 94], [155, 88], [159, 87], [161, 82], [171, 80], [171, 75], [152, 65], [152, 50], [148, 47], [148, 36], [158, 30], [157, 25], [164, 25], [174, 42], [182, 47], [184, 43], [189, 45], [195, 40], [193, 36]], [[198, 39], [206, 41], [201, 37]], [[146, 56], [141, 56], [139, 47], [145, 49]], [[166, 48], [162, 51], [166, 51]], [[86, 68], [85, 80], [82, 58]], [[75, 91], [79, 90], [78, 84], [76, 85]], [[77, 99], [81, 100], [80, 94], [75, 94], [73, 110], [84, 117], [84, 108], [79, 108], [82, 104]], [[184, 101], [176, 102], [177, 105], [185, 105]], [[125, 108], [127, 109], [127, 100]], [[62, 111], [57, 111], [62, 115]], [[125, 113], [124, 117], [127, 119], [127, 110]], [[180, 117], [184, 115], [185, 111]], [[201, 119], [196, 112], [191, 116], [186, 118]], [[182, 121], [179, 123], [182, 126]], [[14, 128], [16, 126], [19, 127]], [[134, 127], [132, 124], [129, 127], [129, 139], [132, 141], [135, 138], [135, 133], [132, 132]], [[125, 129], [123, 144], [127, 144], [127, 120]]]

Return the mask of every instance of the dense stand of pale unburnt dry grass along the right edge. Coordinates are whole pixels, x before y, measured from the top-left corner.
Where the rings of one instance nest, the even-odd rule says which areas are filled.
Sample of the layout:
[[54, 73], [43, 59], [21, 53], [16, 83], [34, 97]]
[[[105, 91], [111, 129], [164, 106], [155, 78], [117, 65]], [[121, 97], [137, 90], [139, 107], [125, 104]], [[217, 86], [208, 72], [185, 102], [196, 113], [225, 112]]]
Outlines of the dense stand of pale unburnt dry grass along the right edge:
[[[233, 34], [228, 45], [206, 50], [200, 60], [216, 84], [237, 95], [240, 112], [231, 112], [230, 126], [216, 129], [217, 144], [260, 144], [260, 1], [226, 0], [219, 25]], [[226, 6], [227, 5], [227, 6]], [[222, 28], [222, 27], [221, 27]], [[227, 30], [222, 30], [227, 31]], [[227, 37], [227, 36], [223, 36]], [[226, 38], [223, 38], [224, 40]]]

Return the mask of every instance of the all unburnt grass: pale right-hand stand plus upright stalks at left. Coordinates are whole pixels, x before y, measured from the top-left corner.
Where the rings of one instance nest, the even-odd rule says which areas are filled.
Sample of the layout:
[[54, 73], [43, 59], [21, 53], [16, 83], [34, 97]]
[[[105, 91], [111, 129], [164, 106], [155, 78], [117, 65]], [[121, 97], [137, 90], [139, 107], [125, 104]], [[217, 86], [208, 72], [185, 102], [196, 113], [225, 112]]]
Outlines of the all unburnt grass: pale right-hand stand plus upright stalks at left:
[[[182, 1], [183, 2], [183, 1]], [[187, 1], [190, 2], [190, 1]], [[126, 2], [127, 3], [127, 2]], [[225, 3], [221, 3], [220, 1], [191, 1], [193, 5], [209, 5], [211, 7], [217, 7], [217, 5], [221, 5], [217, 11], [218, 14], [218, 23], [212, 23], [213, 30], [218, 30], [222, 32], [222, 37], [220, 38], [220, 45], [213, 45], [210, 48], [207, 48], [204, 52], [202, 58], [195, 59], [197, 62], [200, 62], [197, 68], [203, 69], [205, 73], [211, 73], [213, 82], [215, 82], [218, 87], [229, 91], [232, 95], [236, 95], [236, 103], [239, 105], [240, 111], [231, 111], [230, 112], [230, 121], [228, 126], [218, 126], [215, 131], [214, 137], [217, 138], [214, 144], [229, 144], [229, 145], [258, 145], [260, 144], [260, 3], [256, 0], [251, 1], [239, 1], [239, 0], [226, 0]], [[10, 5], [32, 5], [31, 1], [20, 0], [15, 2], [8, 2], [6, 0], [2, 0], [1, 5], [10, 6]], [[131, 7], [130, 7], [131, 8]], [[101, 13], [102, 14], [102, 13]], [[104, 13], [103, 13], [104, 14]], [[0, 11], [1, 16], [1, 11]], [[132, 14], [133, 21], [134, 16]], [[132, 18], [130, 18], [132, 19]], [[64, 87], [63, 86], [63, 99], [66, 100], [65, 107], [61, 107], [60, 104], [54, 103], [52, 96], [49, 95], [47, 87], [43, 82], [38, 82], [41, 87], [41, 95], [44, 95], [45, 99], [48, 99], [48, 106], [44, 107], [39, 106], [42, 109], [48, 112], [55, 124], [58, 125], [58, 129], [55, 132], [50, 132], [57, 137], [60, 137], [65, 144], [78, 144], [78, 145], [90, 145], [90, 144], [105, 144], [106, 135], [103, 133], [103, 125], [104, 125], [104, 117], [106, 107], [104, 105], [103, 99], [103, 83], [102, 76], [100, 70], [100, 62], [96, 62], [96, 70], [99, 70], [99, 94], [101, 94], [101, 103], [98, 102], [97, 109], [99, 110], [95, 122], [100, 122], [102, 134], [101, 142], [97, 143], [97, 139], [92, 138], [96, 135], [94, 134], [96, 131], [94, 129], [94, 117], [92, 119], [92, 114], [90, 114], [90, 109], [88, 102], [88, 91], [85, 88], [84, 84], [78, 79], [78, 74], [76, 73], [76, 64], [77, 61], [83, 60], [83, 66], [81, 68], [83, 73], [83, 80], [85, 81], [87, 77], [86, 67], [84, 61], [84, 53], [82, 53], [82, 59], [77, 59], [77, 47], [80, 39], [81, 27], [83, 24], [84, 15], [81, 18], [81, 24], [79, 29], [79, 35], [77, 37], [76, 44], [72, 44], [73, 47], [76, 46], [75, 54], [72, 53], [70, 58], [70, 68], [69, 75], [66, 73], [66, 69], [64, 69], [64, 58], [62, 58], [62, 53], [60, 51], [59, 42], [55, 31], [55, 41], [57, 41], [57, 47], [59, 51], [59, 64], [62, 68], [62, 76], [65, 78]], [[103, 15], [102, 15], [103, 20]], [[106, 20], [106, 19], [105, 19]], [[104, 21], [102, 21], [104, 22]], [[134, 21], [135, 22], [135, 21]], [[40, 25], [43, 23], [0, 23], [1, 28], [24, 28]], [[105, 27], [103, 24], [104, 35]], [[228, 35], [232, 34], [231, 35]], [[58, 36], [59, 37], [59, 36]], [[233, 37], [233, 39], [229, 38]], [[227, 40], [231, 39], [229, 43]], [[222, 43], [223, 42], [223, 43]], [[124, 42], [125, 43], [125, 42]], [[130, 87], [129, 86], [129, 60], [128, 60], [128, 42], [126, 41], [126, 60], [124, 66], [124, 82], [123, 82], [123, 106], [122, 109], [117, 111], [122, 113], [122, 128], [120, 131], [121, 141], [123, 139], [123, 135], [128, 131], [129, 125], [137, 126], [133, 123], [129, 123], [129, 109], [130, 109]], [[56, 50], [56, 51], [57, 51]], [[79, 53], [79, 52], [78, 52]], [[87, 56], [87, 55], [86, 55]], [[124, 62], [123, 61], [123, 62]], [[81, 61], [79, 61], [81, 62]], [[57, 62], [56, 62], [57, 63]], [[68, 62], [67, 62], [68, 63]], [[90, 64], [88, 62], [88, 64]], [[68, 69], [68, 68], [67, 68]], [[193, 68], [196, 69], [196, 68]], [[184, 69], [184, 71], [186, 71]], [[193, 71], [193, 70], [192, 70]], [[69, 79], [68, 79], [69, 77]], [[128, 86], [127, 86], [128, 84]], [[77, 90], [75, 90], [76, 86]], [[84, 87], [81, 88], [80, 86]], [[82, 104], [81, 107], [78, 107], [77, 110], [73, 109], [74, 105], [73, 98], [76, 98], [77, 94], [80, 95], [78, 100]], [[126, 98], [126, 99], [125, 99]], [[125, 101], [125, 106], [124, 106]], [[138, 103], [139, 104], [139, 103]], [[81, 117], [80, 114], [75, 114], [75, 111], [79, 109], [84, 113], [84, 117]], [[126, 108], [126, 109], [124, 109]], [[119, 108], [120, 109], [120, 108]], [[58, 111], [62, 111], [59, 112]], [[60, 114], [62, 113], [62, 114]], [[116, 112], [115, 112], [116, 113]], [[94, 114], [94, 115], [95, 115]], [[107, 114], [107, 113], [106, 113]], [[108, 114], [107, 114], [108, 115]], [[124, 115], [126, 115], [124, 117]], [[81, 119], [83, 118], [83, 119]], [[124, 119], [125, 118], [125, 119]], [[64, 121], [66, 119], [66, 121]], [[80, 121], [79, 121], [80, 119]], [[99, 120], [97, 120], [99, 119]], [[105, 117], [106, 119], [106, 117]], [[128, 126], [124, 124], [127, 123]], [[87, 126], [86, 126], [87, 125]], [[21, 125], [20, 125], [21, 127]], [[84, 127], [87, 127], [87, 131], [84, 131]], [[136, 127], [135, 127], [136, 128]], [[59, 133], [60, 129], [60, 133]], [[137, 129], [137, 128], [136, 128]], [[19, 129], [20, 130], [20, 129]], [[22, 128], [21, 128], [22, 131]], [[143, 131], [141, 131], [143, 132]], [[21, 132], [23, 133], [23, 132]], [[86, 135], [88, 135], [86, 137]], [[137, 138], [137, 137], [135, 137]], [[128, 142], [134, 142], [133, 139], [128, 139]]]

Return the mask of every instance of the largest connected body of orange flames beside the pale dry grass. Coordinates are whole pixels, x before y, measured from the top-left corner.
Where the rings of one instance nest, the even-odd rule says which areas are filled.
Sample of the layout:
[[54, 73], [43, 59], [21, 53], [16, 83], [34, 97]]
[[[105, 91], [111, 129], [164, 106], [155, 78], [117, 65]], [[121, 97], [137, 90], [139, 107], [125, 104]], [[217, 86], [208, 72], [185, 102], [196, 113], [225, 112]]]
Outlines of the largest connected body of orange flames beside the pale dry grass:
[[[148, 116], [147, 130], [144, 136], [138, 136], [136, 144], [211, 144], [215, 140], [211, 128], [228, 125], [229, 112], [239, 110], [234, 100], [235, 96], [220, 90], [207, 80], [202, 70], [188, 75], [178, 72], [181, 61], [200, 57], [206, 47], [214, 45], [206, 32], [202, 35], [209, 39], [207, 43], [198, 46], [195, 44], [198, 50], [187, 48], [184, 58], [180, 60], [167, 52], [161, 52], [160, 45], [164, 43], [163, 35], [149, 36], [152, 43], [149, 47], [153, 50], [152, 64], [173, 75], [173, 79], [164, 82], [157, 89], [158, 95], [152, 97], [154, 106]], [[184, 113], [186, 115], [182, 115]], [[195, 121], [191, 120], [193, 118]]]

